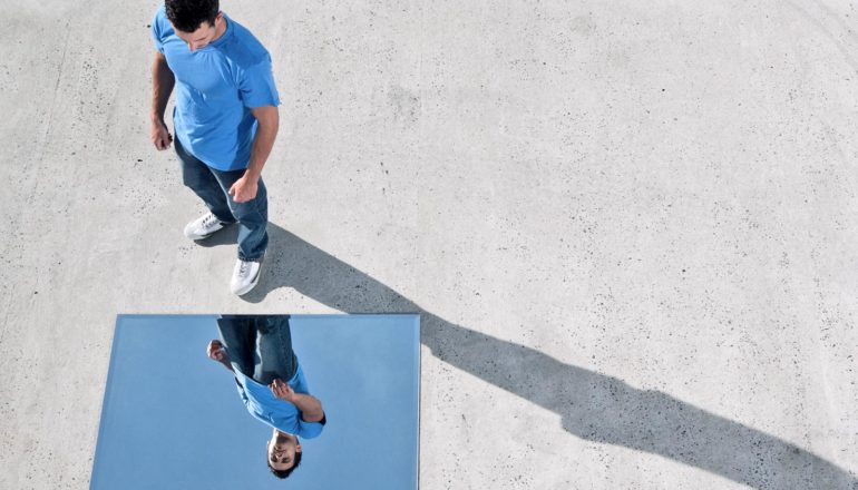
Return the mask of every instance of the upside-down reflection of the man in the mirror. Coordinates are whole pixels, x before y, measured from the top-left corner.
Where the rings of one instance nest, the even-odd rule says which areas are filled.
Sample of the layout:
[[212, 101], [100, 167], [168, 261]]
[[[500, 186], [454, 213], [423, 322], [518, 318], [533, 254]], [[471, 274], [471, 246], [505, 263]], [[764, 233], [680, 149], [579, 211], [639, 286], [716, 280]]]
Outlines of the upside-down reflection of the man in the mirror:
[[319, 437], [325, 424], [322, 404], [309, 394], [292, 351], [289, 316], [224, 315], [217, 327], [223, 342], [209, 342], [208, 356], [235, 374], [247, 411], [273, 429], [269, 468], [286, 478], [301, 463], [299, 437]]

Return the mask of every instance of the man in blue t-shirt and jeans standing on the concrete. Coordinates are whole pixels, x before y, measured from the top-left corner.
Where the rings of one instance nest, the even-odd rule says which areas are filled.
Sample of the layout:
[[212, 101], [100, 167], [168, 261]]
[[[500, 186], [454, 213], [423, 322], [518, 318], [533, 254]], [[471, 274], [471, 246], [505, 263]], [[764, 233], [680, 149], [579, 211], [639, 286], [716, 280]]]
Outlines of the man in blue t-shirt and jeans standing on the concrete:
[[188, 223], [194, 241], [237, 223], [238, 259], [230, 287], [242, 295], [260, 280], [269, 243], [267, 195], [262, 167], [277, 134], [280, 98], [271, 57], [217, 0], [166, 0], [152, 22], [158, 52], [152, 66], [152, 143], [173, 143], [164, 122], [173, 110], [182, 178], [208, 207]]

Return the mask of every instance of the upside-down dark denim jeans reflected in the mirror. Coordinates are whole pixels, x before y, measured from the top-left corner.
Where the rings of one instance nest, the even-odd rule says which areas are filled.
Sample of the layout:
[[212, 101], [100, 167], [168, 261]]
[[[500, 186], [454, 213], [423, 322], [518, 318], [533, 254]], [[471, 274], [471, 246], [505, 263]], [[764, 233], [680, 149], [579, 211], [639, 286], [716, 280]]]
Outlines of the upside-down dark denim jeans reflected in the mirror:
[[270, 384], [275, 378], [289, 382], [295, 375], [289, 315], [222, 315], [217, 330], [233, 369], [245, 376]]

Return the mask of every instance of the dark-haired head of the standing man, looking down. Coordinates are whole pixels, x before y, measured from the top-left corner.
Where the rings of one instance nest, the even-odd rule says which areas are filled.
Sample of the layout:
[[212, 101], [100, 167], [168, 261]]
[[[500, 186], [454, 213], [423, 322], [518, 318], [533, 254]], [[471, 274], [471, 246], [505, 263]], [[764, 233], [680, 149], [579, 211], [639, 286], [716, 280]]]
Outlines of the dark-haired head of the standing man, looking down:
[[167, 19], [192, 51], [208, 46], [224, 30], [218, 0], [166, 0]]

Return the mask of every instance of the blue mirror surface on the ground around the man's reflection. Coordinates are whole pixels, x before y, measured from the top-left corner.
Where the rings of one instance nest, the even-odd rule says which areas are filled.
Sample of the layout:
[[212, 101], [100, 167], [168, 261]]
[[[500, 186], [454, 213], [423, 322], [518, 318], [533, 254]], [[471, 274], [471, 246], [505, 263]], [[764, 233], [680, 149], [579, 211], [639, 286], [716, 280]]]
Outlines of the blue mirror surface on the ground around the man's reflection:
[[120, 315], [90, 489], [416, 489], [419, 316], [290, 315], [309, 392], [325, 413], [280, 480], [272, 429], [206, 355], [216, 315]]

